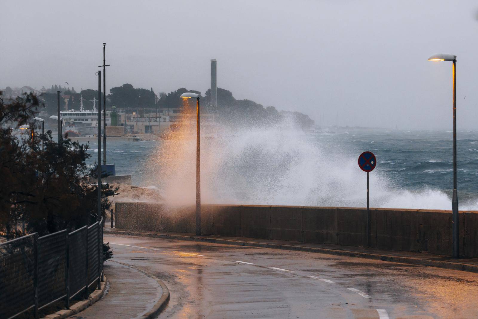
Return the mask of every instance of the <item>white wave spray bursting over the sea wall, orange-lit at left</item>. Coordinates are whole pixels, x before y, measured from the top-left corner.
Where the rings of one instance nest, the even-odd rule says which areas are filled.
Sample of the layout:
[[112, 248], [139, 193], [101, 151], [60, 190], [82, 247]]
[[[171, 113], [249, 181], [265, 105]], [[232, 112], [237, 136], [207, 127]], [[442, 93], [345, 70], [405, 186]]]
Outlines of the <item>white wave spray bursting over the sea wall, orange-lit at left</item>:
[[[267, 128], [203, 126], [203, 203], [348, 207], [367, 204], [367, 176], [357, 165], [362, 150], [339, 150], [326, 144], [320, 135], [304, 133], [287, 121]], [[183, 123], [159, 152], [153, 153], [151, 161], [153, 171], [147, 182], [157, 186], [168, 203], [195, 203], [195, 125]], [[412, 191], [393, 185], [385, 173], [372, 171], [370, 207], [451, 209], [449, 196], [439, 190]], [[460, 210], [477, 206], [478, 203], [461, 203]]]

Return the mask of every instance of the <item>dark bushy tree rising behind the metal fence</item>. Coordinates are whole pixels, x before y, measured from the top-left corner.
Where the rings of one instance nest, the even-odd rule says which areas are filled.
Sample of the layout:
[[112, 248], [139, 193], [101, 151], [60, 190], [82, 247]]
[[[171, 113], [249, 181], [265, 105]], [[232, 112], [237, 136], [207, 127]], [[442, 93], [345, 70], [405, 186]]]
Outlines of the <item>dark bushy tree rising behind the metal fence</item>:
[[[86, 165], [87, 145], [68, 138], [57, 143], [51, 131], [18, 137], [8, 127], [33, 126], [41, 106], [32, 93], [4, 103], [0, 92], [0, 231], [10, 237], [22, 220], [28, 232], [44, 235], [87, 225], [97, 211], [97, 186], [88, 182], [94, 172]], [[102, 188], [103, 215], [108, 196], [116, 191], [108, 184]]]

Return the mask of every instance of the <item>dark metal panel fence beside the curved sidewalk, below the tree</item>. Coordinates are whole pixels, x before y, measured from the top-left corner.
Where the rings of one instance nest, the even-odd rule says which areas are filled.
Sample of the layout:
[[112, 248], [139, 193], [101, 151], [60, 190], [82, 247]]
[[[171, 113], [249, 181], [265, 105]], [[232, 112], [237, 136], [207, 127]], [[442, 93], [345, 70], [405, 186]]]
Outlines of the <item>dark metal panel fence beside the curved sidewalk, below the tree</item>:
[[100, 287], [103, 220], [68, 233], [37, 233], [0, 243], [0, 319], [11, 319]]

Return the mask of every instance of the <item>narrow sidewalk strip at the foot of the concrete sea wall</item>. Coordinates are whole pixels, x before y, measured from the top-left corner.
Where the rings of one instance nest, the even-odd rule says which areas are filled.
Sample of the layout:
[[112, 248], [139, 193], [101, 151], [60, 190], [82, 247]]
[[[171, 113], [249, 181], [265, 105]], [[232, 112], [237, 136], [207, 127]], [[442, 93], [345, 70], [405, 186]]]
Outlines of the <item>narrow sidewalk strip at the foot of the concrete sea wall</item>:
[[340, 246], [335, 244], [309, 244], [285, 240], [252, 239], [244, 237], [223, 237], [223, 236], [196, 236], [189, 233], [171, 233], [154, 231], [130, 231], [120, 228], [104, 228], [105, 234], [118, 234], [130, 236], [154, 237], [163, 239], [178, 239], [205, 241], [218, 244], [252, 246], [262, 248], [285, 249], [292, 251], [308, 251], [333, 255], [349, 256], [376, 259], [388, 262], [402, 262], [420, 264], [447, 269], [463, 270], [478, 273], [478, 258], [454, 259], [451, 256], [435, 255], [427, 252], [413, 251], [387, 251], [376, 248]]

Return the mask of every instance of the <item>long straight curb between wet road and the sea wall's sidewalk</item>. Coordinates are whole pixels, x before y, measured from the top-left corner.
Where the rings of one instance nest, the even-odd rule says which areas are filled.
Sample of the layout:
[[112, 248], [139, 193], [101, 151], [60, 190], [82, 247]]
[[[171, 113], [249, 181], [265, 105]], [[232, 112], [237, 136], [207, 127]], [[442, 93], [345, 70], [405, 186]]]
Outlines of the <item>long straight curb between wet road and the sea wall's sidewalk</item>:
[[160, 238], [160, 239], [204, 241], [204, 242], [217, 243], [217, 244], [260, 247], [260, 248], [273, 248], [273, 249], [283, 249], [283, 250], [288, 250], [288, 251], [318, 252], [318, 253], [325, 253], [325, 254], [331, 254], [331, 255], [381, 260], [381, 261], [384, 261], [384, 262], [400, 262], [400, 263], [408, 263], [408, 264], [413, 264], [413, 265], [424, 265], [424, 266], [431, 266], [431, 267], [438, 267], [438, 268], [445, 268], [445, 269], [453, 269], [453, 270], [462, 270], [462, 271], [466, 271], [466, 272], [478, 273], [478, 266], [477, 265], [458, 263], [458, 262], [435, 261], [435, 260], [419, 259], [419, 258], [412, 258], [412, 257], [380, 255], [380, 254], [372, 254], [372, 253], [359, 252], [359, 251], [343, 251], [343, 250], [336, 250], [336, 249], [305, 247], [305, 246], [298, 246], [298, 245], [280, 245], [280, 244], [269, 244], [269, 243], [252, 242], [252, 241], [231, 240], [231, 239], [216, 239], [216, 238], [209, 238], [209, 237], [141, 233], [141, 232], [135, 232], [135, 231], [121, 231], [121, 230], [107, 230], [107, 229], [104, 230], [104, 233], [105, 234], [112, 234], [112, 235], [116, 234], [116, 235], [152, 237], [152, 238]]

